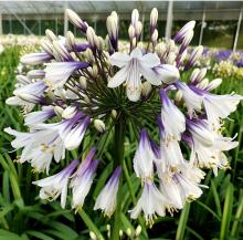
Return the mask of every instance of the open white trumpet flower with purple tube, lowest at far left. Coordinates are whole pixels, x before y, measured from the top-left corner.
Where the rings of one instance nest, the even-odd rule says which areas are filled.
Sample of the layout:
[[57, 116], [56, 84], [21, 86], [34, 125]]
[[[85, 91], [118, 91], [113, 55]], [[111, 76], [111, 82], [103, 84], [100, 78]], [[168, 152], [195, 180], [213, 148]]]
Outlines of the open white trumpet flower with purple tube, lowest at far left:
[[61, 206], [62, 208], [65, 208], [68, 179], [77, 164], [78, 160], [74, 159], [59, 174], [33, 181], [34, 185], [41, 187], [40, 198], [46, 200], [55, 200], [61, 195]]

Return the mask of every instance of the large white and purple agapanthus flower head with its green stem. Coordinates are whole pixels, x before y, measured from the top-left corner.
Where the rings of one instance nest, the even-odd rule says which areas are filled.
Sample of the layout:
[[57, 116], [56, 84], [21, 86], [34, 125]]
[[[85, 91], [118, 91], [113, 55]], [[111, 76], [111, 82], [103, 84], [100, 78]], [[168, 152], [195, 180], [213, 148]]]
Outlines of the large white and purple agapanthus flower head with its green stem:
[[[203, 170], [213, 169], [216, 175], [219, 168], [229, 167], [224, 152], [237, 142], [223, 136], [223, 119], [243, 97], [211, 93], [221, 80], [209, 82], [207, 70], [194, 67], [203, 52], [201, 45], [187, 51], [194, 21], [173, 39], [161, 41], [158, 11], [152, 9], [149, 40], [141, 43], [142, 23], [134, 10], [126, 49], [118, 41], [116, 12], [107, 18], [105, 40], [72, 10], [66, 14], [85, 42], [78, 42], [70, 31], [64, 38], [46, 30], [43, 51], [22, 56], [21, 62], [35, 70], [17, 76], [14, 96], [7, 103], [23, 107], [28, 132], [10, 127], [6, 132], [15, 136], [12, 147], [22, 149], [19, 161], [28, 161], [46, 175], [64, 158], [68, 163], [67, 152], [77, 150], [77, 159], [60, 173], [33, 182], [41, 187], [40, 198], [61, 196], [61, 206], [75, 210], [91, 205], [85, 198], [108, 164], [104, 150], [114, 146], [114, 173], [93, 206], [107, 217], [115, 212], [112, 239], [118, 239], [122, 188], [133, 175], [123, 177], [129, 160], [124, 157], [125, 139], [130, 143], [130, 134], [137, 137], [133, 166], [141, 182], [129, 215], [136, 219], [142, 212], [152, 226], [156, 216], [172, 215], [202, 195], [202, 187], [207, 187], [201, 184]], [[186, 72], [190, 79], [183, 81]]]

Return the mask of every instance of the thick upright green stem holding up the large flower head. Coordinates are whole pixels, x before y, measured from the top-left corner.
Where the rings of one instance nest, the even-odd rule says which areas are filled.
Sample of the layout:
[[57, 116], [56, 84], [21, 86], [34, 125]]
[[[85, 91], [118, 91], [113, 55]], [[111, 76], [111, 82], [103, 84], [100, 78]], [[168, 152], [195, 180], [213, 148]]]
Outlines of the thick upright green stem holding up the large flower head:
[[[114, 158], [116, 165], [123, 166], [124, 161], [124, 140], [125, 140], [125, 121], [120, 117], [115, 125], [115, 153]], [[116, 166], [115, 166], [116, 167]], [[112, 240], [119, 239], [119, 230], [122, 229], [122, 202], [123, 202], [123, 173], [119, 178], [119, 189], [117, 192], [117, 206], [112, 226]]]

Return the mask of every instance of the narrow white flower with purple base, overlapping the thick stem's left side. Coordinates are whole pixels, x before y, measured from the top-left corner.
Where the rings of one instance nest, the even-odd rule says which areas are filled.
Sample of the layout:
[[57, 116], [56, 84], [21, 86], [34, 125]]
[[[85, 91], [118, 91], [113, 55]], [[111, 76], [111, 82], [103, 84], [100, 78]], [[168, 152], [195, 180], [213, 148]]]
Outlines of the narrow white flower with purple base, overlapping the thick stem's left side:
[[116, 209], [117, 191], [119, 187], [119, 176], [122, 173], [122, 167], [117, 167], [109, 178], [108, 182], [99, 192], [94, 210], [102, 209], [105, 216], [110, 217]]

